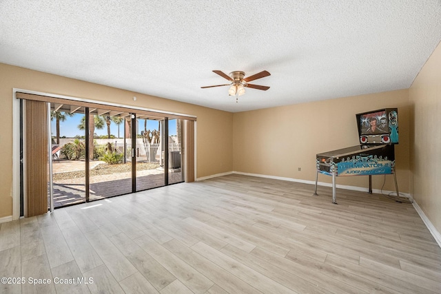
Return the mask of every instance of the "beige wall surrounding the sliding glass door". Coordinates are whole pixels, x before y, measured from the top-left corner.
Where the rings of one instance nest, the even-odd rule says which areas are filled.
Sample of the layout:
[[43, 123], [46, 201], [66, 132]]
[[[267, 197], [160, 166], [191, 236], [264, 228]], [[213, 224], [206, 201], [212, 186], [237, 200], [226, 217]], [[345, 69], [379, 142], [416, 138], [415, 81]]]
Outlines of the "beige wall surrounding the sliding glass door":
[[[0, 218], [12, 216], [12, 88], [88, 98], [197, 116], [196, 177], [232, 171], [229, 112], [143, 95], [0, 63]], [[133, 101], [133, 96], [137, 97]]]

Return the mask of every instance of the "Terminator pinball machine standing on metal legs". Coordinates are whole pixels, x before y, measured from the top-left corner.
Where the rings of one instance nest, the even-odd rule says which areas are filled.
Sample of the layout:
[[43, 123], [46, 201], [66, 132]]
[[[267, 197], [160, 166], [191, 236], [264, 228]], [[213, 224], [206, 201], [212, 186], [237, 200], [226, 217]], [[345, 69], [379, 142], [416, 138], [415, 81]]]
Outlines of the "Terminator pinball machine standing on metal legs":
[[316, 156], [316, 186], [318, 174], [332, 176], [332, 203], [336, 202], [336, 178], [339, 176], [372, 176], [393, 174], [396, 193], [395, 145], [398, 144], [398, 109], [385, 108], [356, 114], [360, 145], [327, 151]]

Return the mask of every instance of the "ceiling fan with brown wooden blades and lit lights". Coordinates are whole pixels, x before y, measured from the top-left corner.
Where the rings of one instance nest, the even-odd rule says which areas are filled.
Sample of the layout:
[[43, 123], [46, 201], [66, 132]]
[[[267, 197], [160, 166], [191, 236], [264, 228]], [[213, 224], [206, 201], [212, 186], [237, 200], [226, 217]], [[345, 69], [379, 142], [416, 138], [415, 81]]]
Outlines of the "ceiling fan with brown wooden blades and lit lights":
[[258, 72], [257, 74], [253, 74], [252, 76], [247, 76], [246, 78], [245, 78], [245, 72], [240, 72], [240, 71], [230, 72], [228, 76], [227, 74], [224, 74], [220, 70], [214, 70], [213, 72], [215, 74], [218, 74], [219, 76], [222, 76], [223, 78], [226, 78], [231, 83], [223, 84], [223, 85], [205, 86], [201, 88], [205, 89], [209, 87], [231, 86], [229, 87], [228, 94], [229, 96], [236, 96], [236, 103], [238, 96], [245, 94], [245, 87], [249, 87], [257, 90], [263, 90], [263, 91], [269, 89], [269, 87], [267, 86], [254, 85], [248, 83], [250, 81], [257, 80], [258, 78], [265, 78], [265, 76], [270, 76], [271, 74], [266, 70], [262, 72]]

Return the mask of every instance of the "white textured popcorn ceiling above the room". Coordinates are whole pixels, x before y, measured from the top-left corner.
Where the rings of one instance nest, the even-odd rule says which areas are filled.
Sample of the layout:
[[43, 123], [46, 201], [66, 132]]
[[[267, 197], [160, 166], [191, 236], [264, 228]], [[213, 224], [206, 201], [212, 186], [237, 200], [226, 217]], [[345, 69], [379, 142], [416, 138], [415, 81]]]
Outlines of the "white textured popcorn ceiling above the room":
[[440, 0], [0, 0], [1, 63], [229, 112], [408, 88], [440, 40]]

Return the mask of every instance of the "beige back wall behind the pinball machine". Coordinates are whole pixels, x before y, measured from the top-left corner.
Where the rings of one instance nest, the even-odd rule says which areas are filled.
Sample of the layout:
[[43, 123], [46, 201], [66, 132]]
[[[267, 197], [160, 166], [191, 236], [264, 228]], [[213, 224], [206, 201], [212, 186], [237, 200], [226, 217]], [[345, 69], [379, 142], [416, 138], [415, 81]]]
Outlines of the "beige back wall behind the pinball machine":
[[[356, 114], [386, 107], [398, 107], [398, 187], [409, 193], [408, 90], [236, 113], [234, 171], [314, 181], [316, 154], [358, 145]], [[381, 189], [383, 180], [374, 176], [373, 189]], [[319, 181], [331, 177], [319, 175]], [[367, 187], [367, 176], [339, 177], [337, 184]], [[393, 176], [386, 176], [384, 189], [395, 190]]]

